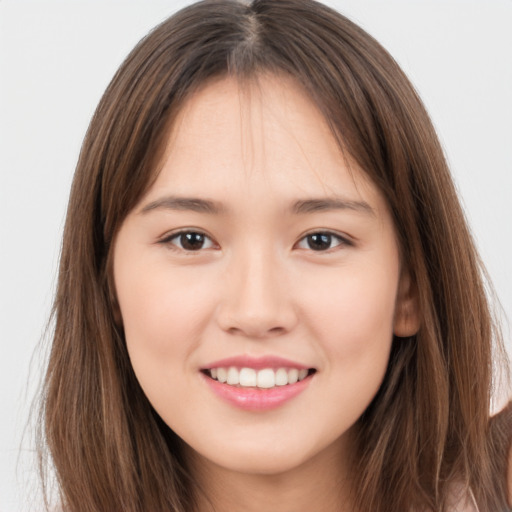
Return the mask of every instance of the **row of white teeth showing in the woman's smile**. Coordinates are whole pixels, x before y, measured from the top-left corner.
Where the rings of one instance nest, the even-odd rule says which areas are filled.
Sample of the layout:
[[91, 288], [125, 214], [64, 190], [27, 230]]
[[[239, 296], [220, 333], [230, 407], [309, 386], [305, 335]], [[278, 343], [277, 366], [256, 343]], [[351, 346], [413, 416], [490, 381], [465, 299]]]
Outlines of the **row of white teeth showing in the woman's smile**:
[[313, 375], [314, 368], [236, 368], [218, 367], [202, 370], [211, 379], [239, 388], [272, 389], [278, 386], [289, 386]]

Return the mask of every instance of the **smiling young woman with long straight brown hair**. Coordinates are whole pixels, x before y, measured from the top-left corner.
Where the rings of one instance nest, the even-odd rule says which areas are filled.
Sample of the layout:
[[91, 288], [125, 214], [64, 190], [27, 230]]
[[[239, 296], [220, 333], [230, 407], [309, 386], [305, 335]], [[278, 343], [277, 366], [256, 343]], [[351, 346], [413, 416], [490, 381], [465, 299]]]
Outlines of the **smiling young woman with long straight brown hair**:
[[442, 150], [321, 4], [199, 3], [135, 48], [82, 147], [55, 319], [66, 510], [509, 507], [505, 356]]

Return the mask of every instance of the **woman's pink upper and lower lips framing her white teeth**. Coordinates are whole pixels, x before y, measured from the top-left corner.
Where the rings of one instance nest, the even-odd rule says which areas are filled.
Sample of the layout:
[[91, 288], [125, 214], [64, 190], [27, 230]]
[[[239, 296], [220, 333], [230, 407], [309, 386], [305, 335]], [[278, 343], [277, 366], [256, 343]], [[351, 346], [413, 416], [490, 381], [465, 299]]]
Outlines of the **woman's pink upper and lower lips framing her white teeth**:
[[[305, 365], [280, 357], [265, 356], [254, 358], [240, 356], [215, 361], [202, 368], [202, 370], [220, 367], [253, 368], [255, 370], [264, 368], [297, 368], [300, 370], [308, 368]], [[311, 382], [311, 376], [308, 376], [294, 384], [261, 389], [231, 386], [212, 379], [205, 372], [202, 372], [201, 375], [206, 384], [218, 397], [237, 408], [247, 411], [266, 411], [280, 407], [304, 391]]]

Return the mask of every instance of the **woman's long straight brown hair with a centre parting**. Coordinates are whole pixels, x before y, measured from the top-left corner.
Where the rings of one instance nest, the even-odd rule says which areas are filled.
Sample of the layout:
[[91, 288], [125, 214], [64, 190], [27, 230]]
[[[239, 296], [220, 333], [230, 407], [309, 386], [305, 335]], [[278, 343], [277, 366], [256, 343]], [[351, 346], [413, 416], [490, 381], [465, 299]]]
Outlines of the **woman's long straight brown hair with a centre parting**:
[[480, 512], [505, 510], [512, 413], [489, 414], [493, 357], [505, 362], [505, 352], [443, 151], [392, 57], [312, 0], [187, 7], [137, 45], [101, 99], [69, 201], [43, 396], [65, 510], [194, 509], [180, 440], [139, 387], [116, 322], [112, 241], [154, 180], [187, 95], [214, 77], [260, 72], [300, 82], [379, 187], [418, 293], [420, 330], [393, 341], [358, 421], [358, 510], [444, 511], [454, 482]]

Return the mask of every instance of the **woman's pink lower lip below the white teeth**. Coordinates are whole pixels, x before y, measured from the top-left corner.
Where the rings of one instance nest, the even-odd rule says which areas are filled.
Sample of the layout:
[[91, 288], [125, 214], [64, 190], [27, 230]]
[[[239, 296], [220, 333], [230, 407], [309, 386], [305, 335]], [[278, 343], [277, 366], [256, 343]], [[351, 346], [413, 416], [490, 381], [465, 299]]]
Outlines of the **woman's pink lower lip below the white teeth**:
[[210, 389], [220, 398], [247, 411], [268, 411], [284, 405], [304, 391], [311, 382], [312, 375], [286, 386], [276, 386], [270, 389], [244, 388], [223, 384], [201, 374]]

